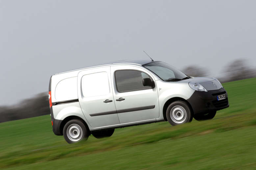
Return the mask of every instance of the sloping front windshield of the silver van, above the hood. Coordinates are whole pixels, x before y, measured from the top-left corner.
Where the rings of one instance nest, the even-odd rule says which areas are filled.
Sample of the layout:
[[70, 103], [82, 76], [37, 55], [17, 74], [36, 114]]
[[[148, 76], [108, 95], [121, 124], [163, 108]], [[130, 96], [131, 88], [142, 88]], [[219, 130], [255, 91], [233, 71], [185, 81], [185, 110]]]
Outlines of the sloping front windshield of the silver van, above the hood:
[[177, 68], [162, 61], [150, 62], [148, 64], [144, 64], [143, 66], [158, 75], [162, 80], [167, 82], [179, 81], [190, 78]]

